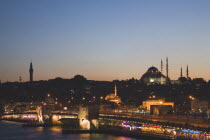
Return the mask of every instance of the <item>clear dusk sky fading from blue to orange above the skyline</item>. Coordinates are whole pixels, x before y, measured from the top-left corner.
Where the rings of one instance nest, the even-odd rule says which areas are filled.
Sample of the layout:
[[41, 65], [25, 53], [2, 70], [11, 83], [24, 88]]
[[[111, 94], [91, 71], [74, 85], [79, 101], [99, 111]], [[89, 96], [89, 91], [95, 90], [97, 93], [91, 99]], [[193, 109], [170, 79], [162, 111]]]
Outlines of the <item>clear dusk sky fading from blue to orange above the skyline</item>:
[[209, 0], [0, 0], [0, 80], [210, 79]]

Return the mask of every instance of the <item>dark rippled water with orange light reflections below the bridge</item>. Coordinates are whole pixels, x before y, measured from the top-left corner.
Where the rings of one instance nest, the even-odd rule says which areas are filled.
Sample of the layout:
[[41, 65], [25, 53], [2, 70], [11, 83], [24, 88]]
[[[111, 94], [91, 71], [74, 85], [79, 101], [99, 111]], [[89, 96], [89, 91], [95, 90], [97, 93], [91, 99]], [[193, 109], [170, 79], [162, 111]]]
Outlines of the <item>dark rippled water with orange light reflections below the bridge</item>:
[[[59, 126], [51, 128], [27, 127], [21, 123], [0, 121], [0, 140], [136, 140], [106, 134], [62, 134]], [[138, 139], [140, 140], [140, 139]]]

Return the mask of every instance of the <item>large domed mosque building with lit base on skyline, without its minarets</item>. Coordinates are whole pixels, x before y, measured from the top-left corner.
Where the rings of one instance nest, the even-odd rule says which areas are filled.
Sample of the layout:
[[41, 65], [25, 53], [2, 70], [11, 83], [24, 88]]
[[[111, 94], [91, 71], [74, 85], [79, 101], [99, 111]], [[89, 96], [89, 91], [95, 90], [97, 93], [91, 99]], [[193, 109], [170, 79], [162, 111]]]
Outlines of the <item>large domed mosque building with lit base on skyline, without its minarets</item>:
[[147, 84], [166, 84], [169, 79], [163, 75], [156, 67], [150, 67], [147, 72], [142, 75], [140, 81]]

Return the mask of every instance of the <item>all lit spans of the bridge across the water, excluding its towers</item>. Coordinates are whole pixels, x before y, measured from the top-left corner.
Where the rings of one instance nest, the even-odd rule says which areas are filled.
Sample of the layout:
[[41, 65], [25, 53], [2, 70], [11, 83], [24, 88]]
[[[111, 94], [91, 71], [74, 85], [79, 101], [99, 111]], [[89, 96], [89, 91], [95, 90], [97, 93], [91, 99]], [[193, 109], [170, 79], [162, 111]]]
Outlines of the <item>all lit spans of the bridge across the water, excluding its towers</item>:
[[[16, 119], [36, 121], [36, 113], [28, 114], [7, 114], [3, 119]], [[62, 125], [61, 119], [78, 119], [76, 113], [53, 113], [52, 123], [55, 125]], [[179, 119], [179, 120], [174, 120]], [[170, 122], [170, 120], [172, 120]], [[179, 122], [179, 123], [176, 123]], [[181, 122], [183, 121], [183, 122]], [[99, 114], [99, 128], [100, 129], [120, 129], [125, 132], [135, 132], [140, 134], [167, 136], [170, 139], [199, 139], [210, 140], [210, 129], [204, 127], [194, 127], [191, 125], [184, 125], [186, 118], [175, 118], [174, 116], [164, 119], [161, 116], [151, 115], [135, 115], [132, 113], [100, 113]], [[181, 122], [181, 123], [180, 123]]]

